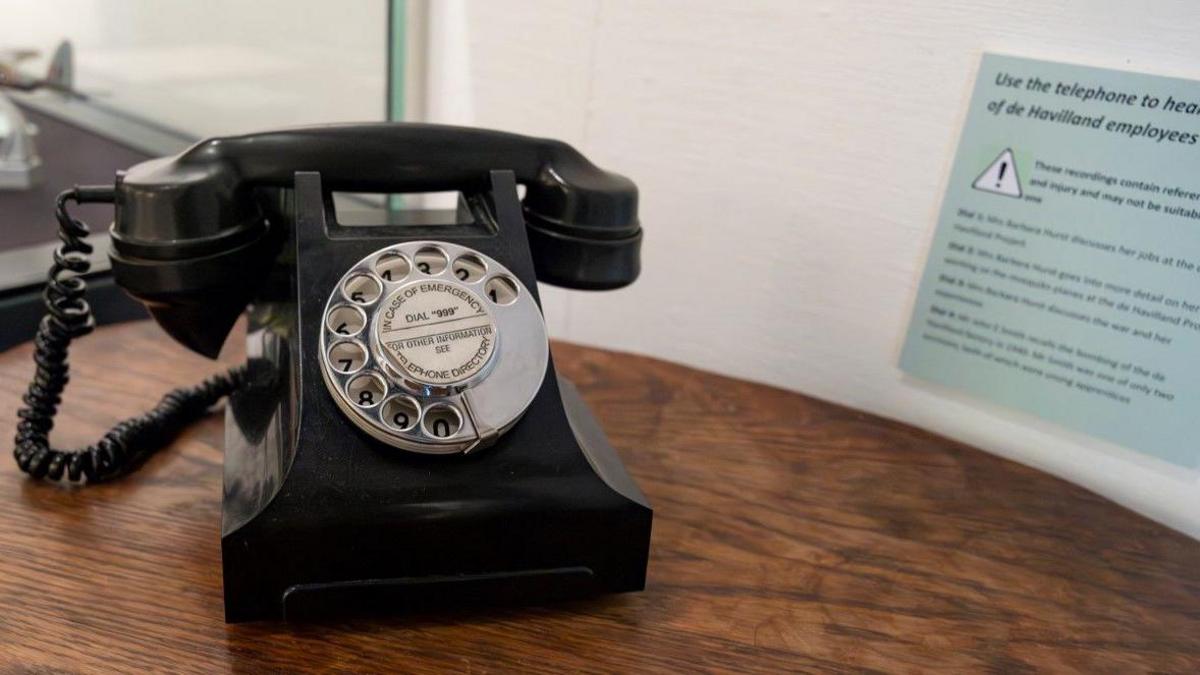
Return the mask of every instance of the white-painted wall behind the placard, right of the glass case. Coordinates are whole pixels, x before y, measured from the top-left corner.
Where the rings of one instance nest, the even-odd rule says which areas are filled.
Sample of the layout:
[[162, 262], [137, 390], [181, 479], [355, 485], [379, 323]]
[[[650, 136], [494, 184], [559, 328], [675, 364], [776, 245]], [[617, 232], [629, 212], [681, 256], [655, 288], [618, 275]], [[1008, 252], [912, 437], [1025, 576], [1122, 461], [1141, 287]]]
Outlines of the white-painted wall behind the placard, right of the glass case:
[[907, 420], [1200, 536], [1194, 473], [896, 369], [980, 53], [1200, 77], [1200, 4], [511, 0], [463, 17], [470, 89], [431, 95], [642, 190], [642, 279], [547, 289], [557, 336]]

